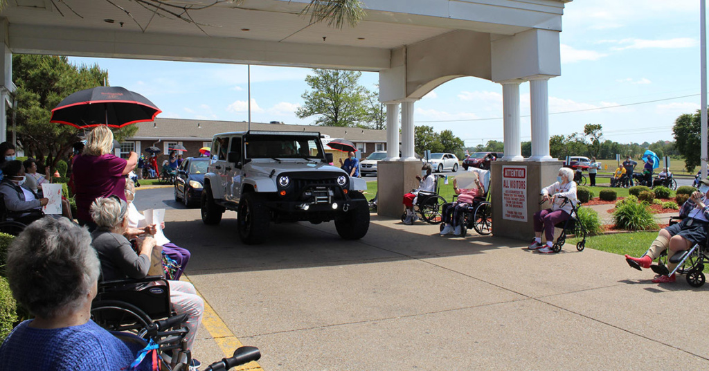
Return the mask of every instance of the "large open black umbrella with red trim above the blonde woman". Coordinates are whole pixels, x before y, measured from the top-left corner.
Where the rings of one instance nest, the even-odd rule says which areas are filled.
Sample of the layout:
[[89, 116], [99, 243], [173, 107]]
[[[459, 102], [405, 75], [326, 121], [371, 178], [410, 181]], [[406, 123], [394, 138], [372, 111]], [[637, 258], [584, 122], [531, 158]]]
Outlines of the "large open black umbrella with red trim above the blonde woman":
[[106, 125], [122, 128], [131, 123], [154, 121], [160, 113], [145, 96], [122, 87], [95, 87], [67, 96], [52, 109], [52, 123], [76, 128]]

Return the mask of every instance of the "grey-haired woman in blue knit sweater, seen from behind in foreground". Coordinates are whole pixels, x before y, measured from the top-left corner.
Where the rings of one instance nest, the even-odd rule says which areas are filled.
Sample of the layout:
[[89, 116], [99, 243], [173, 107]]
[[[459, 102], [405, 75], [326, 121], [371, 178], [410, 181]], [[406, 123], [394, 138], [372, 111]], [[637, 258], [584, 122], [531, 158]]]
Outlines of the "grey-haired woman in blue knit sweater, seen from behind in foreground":
[[6, 338], [0, 370], [128, 370], [134, 354], [90, 319], [99, 268], [89, 232], [67, 218], [43, 218], [20, 233], [6, 272], [35, 319]]

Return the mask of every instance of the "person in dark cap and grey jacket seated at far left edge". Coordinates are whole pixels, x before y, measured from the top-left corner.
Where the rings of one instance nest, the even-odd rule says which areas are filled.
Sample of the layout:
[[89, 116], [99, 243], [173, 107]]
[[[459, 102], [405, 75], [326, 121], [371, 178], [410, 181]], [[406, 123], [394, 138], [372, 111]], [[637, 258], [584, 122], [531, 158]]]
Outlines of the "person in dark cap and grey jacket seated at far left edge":
[[35, 192], [24, 187], [25, 169], [20, 160], [7, 161], [2, 169], [5, 177], [0, 182], [0, 194], [5, 203], [7, 216], [23, 224], [29, 224], [44, 216], [42, 206], [49, 199], [39, 198]]

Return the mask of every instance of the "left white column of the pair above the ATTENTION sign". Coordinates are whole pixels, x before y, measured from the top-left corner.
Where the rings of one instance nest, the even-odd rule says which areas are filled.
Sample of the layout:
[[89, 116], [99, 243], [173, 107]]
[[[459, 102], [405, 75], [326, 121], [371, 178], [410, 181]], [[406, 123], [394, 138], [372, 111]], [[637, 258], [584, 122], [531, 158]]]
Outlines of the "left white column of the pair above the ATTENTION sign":
[[501, 160], [522, 161], [522, 143], [520, 141], [520, 82], [503, 82], [503, 135], [505, 137], [505, 155]]

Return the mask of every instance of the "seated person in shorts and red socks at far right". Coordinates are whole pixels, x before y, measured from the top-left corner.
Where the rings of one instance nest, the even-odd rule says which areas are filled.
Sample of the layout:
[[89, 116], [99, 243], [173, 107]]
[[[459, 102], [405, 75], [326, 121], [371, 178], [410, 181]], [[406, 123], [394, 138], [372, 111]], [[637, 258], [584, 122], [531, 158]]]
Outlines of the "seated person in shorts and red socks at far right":
[[[695, 243], [705, 243], [707, 239], [707, 227], [709, 226], [709, 179], [700, 181], [699, 190], [691, 194], [687, 201], [684, 201], [679, 209], [679, 216], [683, 219], [680, 223], [662, 228], [657, 233], [650, 248], [640, 258], [632, 258], [625, 255], [625, 261], [630, 267], [637, 270], [649, 268], [652, 260], [659, 258], [660, 254], [667, 250], [667, 270], [672, 272], [676, 263], [670, 261], [673, 255], [679, 251], [689, 250]], [[669, 250], [668, 250], [669, 249]], [[652, 282], [668, 283], [675, 282], [675, 275], [656, 275]]]

